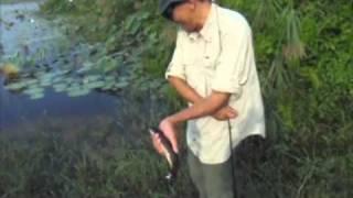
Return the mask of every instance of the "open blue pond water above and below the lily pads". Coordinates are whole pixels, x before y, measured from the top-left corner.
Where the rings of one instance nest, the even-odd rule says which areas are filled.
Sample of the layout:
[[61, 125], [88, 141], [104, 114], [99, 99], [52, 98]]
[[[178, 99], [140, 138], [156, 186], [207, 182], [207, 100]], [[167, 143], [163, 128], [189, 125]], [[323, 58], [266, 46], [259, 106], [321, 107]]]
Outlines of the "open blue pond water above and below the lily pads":
[[[0, 48], [1, 59], [18, 54], [31, 57], [45, 52], [42, 64], [51, 64], [60, 56], [62, 45], [71, 43], [58, 28], [38, 13], [38, 2], [22, 2], [0, 6]], [[75, 48], [68, 47], [71, 51]], [[71, 52], [64, 52], [71, 54]], [[0, 61], [1, 61], [0, 59]], [[68, 62], [71, 62], [68, 57]], [[60, 63], [58, 63], [60, 64]], [[50, 65], [55, 68], [56, 66]], [[0, 77], [0, 131], [19, 127], [31, 120], [47, 118], [75, 117], [110, 117], [117, 111], [117, 97], [104, 92], [92, 91], [82, 97], [68, 97], [65, 92], [55, 92], [49, 86], [44, 98], [32, 100], [23, 94], [11, 92], [4, 88], [4, 79]], [[84, 123], [82, 123], [84, 124]]]

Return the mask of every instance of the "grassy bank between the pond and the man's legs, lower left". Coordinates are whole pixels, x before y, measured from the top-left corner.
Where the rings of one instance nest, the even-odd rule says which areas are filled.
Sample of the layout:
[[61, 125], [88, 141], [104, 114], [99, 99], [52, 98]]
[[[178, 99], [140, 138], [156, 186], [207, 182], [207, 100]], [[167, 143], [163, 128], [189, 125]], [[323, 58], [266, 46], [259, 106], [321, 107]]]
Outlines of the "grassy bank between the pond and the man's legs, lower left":
[[43, 116], [3, 130], [0, 197], [195, 197], [184, 165], [176, 185], [165, 185], [139, 103], [121, 105], [117, 120]]

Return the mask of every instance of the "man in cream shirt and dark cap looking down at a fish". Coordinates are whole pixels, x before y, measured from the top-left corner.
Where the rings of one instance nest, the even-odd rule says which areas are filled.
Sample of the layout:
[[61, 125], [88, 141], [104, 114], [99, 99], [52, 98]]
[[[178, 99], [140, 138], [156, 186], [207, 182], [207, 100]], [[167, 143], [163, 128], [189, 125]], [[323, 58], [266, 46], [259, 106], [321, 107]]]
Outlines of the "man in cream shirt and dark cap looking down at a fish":
[[[165, 78], [189, 108], [159, 128], [178, 153], [175, 127], [188, 121], [188, 164], [200, 197], [233, 198], [231, 148], [265, 138], [252, 30], [243, 15], [208, 0], [160, 0], [160, 9], [181, 26]], [[152, 140], [161, 153], [160, 138]]]

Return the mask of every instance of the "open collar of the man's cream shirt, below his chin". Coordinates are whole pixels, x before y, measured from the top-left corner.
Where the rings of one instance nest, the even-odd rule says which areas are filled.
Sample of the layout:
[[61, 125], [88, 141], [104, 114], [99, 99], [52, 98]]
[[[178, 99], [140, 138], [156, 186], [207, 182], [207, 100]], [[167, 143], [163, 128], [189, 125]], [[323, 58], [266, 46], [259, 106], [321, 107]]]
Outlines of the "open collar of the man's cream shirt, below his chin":
[[192, 32], [189, 33], [189, 38], [191, 40], [196, 40], [197, 37], [203, 37], [206, 42], [211, 42], [211, 29], [212, 29], [212, 24], [214, 23], [214, 21], [216, 20], [216, 14], [215, 14], [215, 9], [216, 4], [212, 3], [211, 4], [211, 9], [210, 9], [210, 13], [208, 16], [205, 21], [205, 24], [203, 25], [203, 28], [199, 31], [199, 32]]

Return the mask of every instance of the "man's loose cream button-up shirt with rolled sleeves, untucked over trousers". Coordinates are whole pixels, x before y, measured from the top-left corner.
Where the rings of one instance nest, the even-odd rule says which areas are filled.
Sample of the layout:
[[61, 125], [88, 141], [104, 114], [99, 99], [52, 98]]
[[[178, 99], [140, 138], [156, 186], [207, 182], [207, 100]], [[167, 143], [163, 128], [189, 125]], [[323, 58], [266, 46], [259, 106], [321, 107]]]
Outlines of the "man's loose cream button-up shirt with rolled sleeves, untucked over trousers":
[[[265, 138], [252, 30], [238, 12], [212, 4], [200, 32], [179, 30], [165, 72], [169, 76], [184, 79], [202, 97], [212, 90], [232, 94], [228, 105], [238, 112], [231, 119], [234, 147], [249, 135]], [[228, 123], [211, 116], [188, 121], [186, 142], [205, 164], [223, 163], [231, 156]]]

